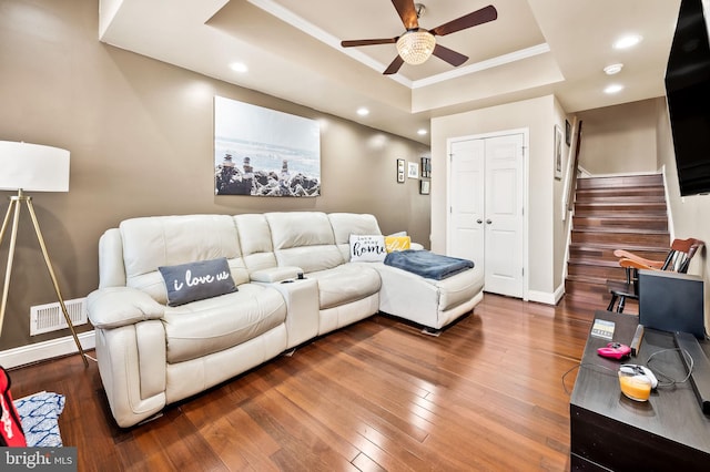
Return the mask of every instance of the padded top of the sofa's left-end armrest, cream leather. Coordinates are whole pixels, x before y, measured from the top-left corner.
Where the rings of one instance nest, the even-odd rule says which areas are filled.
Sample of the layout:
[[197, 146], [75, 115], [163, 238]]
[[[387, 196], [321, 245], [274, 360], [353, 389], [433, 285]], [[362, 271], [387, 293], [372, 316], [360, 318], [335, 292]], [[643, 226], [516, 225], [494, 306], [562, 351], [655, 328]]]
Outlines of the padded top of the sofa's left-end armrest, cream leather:
[[105, 287], [87, 297], [91, 324], [110, 329], [163, 317], [165, 307], [144, 291], [131, 287]]

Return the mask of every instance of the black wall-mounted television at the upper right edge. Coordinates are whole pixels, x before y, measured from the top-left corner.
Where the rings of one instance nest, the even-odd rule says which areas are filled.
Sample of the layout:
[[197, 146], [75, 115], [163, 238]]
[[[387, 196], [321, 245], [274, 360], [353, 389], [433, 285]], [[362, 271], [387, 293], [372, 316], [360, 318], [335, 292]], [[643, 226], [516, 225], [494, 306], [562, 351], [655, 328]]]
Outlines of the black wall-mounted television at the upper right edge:
[[666, 69], [680, 194], [710, 193], [710, 0], [682, 0]]

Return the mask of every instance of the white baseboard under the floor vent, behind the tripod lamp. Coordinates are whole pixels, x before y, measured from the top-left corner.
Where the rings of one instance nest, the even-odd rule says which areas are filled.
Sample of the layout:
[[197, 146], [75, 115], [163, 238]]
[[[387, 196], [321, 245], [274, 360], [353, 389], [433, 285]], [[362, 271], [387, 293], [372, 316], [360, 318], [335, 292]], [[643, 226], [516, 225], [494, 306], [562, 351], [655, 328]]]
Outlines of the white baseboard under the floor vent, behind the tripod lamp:
[[[97, 346], [93, 330], [81, 332], [77, 337], [84, 350], [93, 349]], [[9, 369], [77, 352], [79, 349], [77, 349], [74, 338], [70, 335], [0, 351], [0, 366]]]

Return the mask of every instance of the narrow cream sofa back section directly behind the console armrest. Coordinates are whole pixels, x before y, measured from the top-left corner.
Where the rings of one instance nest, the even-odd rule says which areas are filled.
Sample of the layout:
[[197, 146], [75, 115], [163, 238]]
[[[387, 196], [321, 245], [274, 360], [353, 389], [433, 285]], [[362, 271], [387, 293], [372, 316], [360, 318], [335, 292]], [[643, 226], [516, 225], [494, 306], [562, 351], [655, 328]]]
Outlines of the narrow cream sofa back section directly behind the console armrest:
[[263, 214], [234, 216], [240, 236], [242, 258], [250, 273], [276, 267], [276, 255], [271, 242], [271, 229]]

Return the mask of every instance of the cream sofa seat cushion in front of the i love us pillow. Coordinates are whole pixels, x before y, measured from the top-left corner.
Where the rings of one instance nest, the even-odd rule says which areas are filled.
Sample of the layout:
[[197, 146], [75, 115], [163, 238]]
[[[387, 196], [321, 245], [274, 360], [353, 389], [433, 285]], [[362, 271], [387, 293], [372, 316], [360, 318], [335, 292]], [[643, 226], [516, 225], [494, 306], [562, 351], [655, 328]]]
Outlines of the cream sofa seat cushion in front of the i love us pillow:
[[168, 362], [206, 356], [253, 339], [285, 322], [277, 290], [242, 284], [239, 291], [166, 307], [163, 316]]

